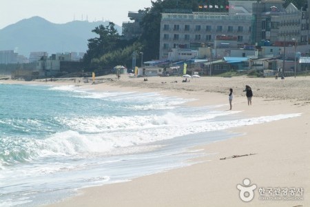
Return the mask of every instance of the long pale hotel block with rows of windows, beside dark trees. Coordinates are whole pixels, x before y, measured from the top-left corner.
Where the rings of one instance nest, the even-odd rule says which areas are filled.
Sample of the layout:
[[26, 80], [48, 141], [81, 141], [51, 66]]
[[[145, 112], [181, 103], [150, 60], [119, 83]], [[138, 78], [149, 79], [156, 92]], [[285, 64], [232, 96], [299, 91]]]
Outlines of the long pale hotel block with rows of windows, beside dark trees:
[[230, 12], [163, 13], [159, 55], [167, 59], [172, 48], [197, 50], [214, 46], [216, 36], [235, 36], [238, 44], [251, 42], [251, 3], [234, 1]]

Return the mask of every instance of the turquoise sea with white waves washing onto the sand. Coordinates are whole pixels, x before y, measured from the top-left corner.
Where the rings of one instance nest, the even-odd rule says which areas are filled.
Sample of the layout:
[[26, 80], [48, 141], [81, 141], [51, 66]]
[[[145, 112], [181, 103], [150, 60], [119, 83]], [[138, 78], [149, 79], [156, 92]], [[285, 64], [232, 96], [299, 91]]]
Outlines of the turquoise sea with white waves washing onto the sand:
[[[40, 206], [98, 186], [193, 164], [242, 118], [156, 92], [0, 84], [0, 206]], [[228, 107], [228, 106], [227, 106]]]

